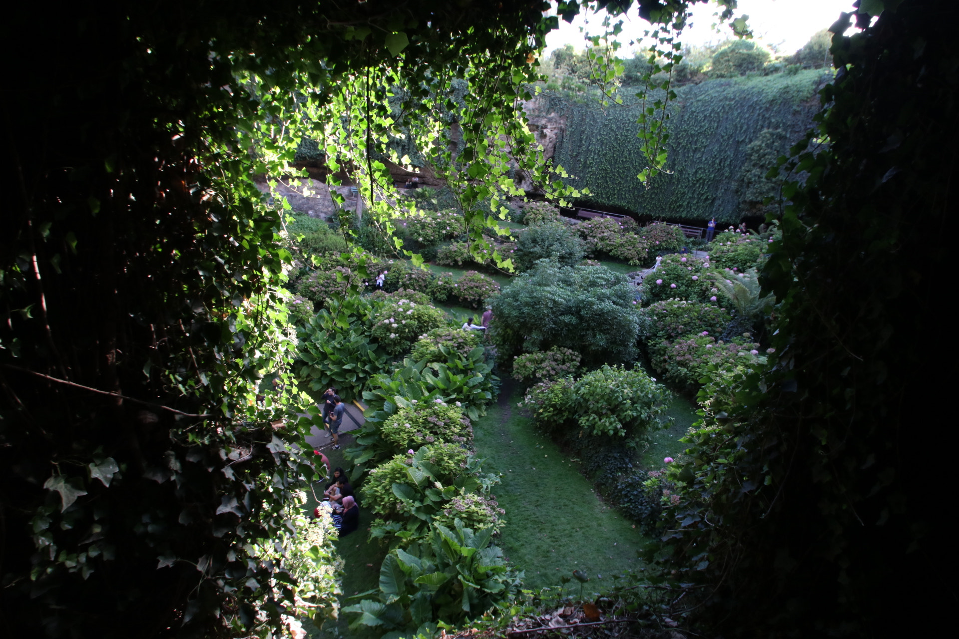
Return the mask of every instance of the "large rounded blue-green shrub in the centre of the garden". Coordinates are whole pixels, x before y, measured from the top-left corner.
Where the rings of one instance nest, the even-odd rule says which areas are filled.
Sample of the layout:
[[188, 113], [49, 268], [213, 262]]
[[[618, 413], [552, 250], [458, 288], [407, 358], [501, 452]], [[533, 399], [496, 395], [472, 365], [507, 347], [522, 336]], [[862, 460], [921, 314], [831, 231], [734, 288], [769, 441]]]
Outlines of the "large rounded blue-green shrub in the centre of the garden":
[[633, 286], [608, 268], [538, 262], [493, 301], [491, 339], [503, 362], [554, 346], [577, 351], [585, 364], [632, 361], [633, 301]]

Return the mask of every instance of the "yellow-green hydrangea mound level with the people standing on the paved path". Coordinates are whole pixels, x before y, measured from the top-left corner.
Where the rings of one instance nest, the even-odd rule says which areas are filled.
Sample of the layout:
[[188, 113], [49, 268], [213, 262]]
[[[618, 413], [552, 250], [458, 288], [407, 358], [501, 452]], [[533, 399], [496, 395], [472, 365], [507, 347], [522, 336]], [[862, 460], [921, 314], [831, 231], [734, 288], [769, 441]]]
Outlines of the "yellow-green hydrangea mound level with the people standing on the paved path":
[[401, 408], [383, 422], [380, 434], [397, 449], [406, 450], [431, 444], [465, 445], [473, 439], [473, 427], [456, 406], [433, 403]]

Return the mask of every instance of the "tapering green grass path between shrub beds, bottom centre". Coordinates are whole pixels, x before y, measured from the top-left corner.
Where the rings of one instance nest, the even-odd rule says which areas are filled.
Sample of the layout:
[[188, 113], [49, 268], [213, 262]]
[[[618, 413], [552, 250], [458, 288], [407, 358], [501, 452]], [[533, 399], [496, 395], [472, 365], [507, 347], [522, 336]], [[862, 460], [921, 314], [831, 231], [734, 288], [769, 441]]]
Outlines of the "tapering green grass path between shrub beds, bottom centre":
[[560, 576], [573, 570], [589, 575], [588, 588], [612, 585], [613, 575], [639, 567], [637, 551], [646, 540], [596, 497], [558, 446], [514, 410], [521, 399], [504, 384], [499, 403], [474, 426], [477, 454], [487, 459], [484, 469], [503, 473], [496, 495], [506, 526], [497, 543], [526, 570], [527, 587], [558, 586]]

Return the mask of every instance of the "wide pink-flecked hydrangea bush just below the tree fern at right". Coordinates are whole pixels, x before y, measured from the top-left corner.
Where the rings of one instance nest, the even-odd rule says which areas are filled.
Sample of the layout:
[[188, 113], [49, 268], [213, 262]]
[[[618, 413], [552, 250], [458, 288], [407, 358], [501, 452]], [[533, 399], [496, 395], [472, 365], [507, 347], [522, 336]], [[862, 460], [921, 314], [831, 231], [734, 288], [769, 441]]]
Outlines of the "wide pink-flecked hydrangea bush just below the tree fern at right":
[[[748, 339], [749, 333], [744, 333]], [[684, 386], [698, 385], [712, 364], [717, 370], [754, 368], [765, 364], [760, 345], [736, 337], [716, 341], [713, 335], [691, 334], [673, 341], [663, 340], [649, 347], [652, 367], [670, 381]]]

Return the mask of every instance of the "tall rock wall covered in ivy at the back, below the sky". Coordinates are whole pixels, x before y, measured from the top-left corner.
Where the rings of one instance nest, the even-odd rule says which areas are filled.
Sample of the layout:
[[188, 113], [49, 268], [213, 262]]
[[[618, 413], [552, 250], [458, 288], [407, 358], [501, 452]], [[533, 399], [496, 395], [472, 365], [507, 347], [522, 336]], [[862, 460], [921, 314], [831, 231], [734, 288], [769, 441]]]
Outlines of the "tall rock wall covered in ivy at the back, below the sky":
[[[766, 129], [799, 140], [812, 124], [823, 72], [808, 70], [765, 77], [706, 80], [676, 89], [668, 123], [671, 175], [656, 177], [646, 191], [636, 178], [645, 166], [636, 138], [641, 105], [628, 87], [623, 104], [605, 112], [589, 97], [541, 95], [526, 112], [539, 128], [561, 123], [553, 159], [574, 176], [566, 181], [590, 194], [580, 202], [625, 209], [644, 218], [738, 222], [751, 208], [740, 202], [747, 147]], [[552, 146], [552, 140], [550, 140]]]

